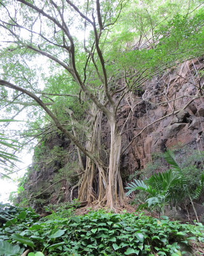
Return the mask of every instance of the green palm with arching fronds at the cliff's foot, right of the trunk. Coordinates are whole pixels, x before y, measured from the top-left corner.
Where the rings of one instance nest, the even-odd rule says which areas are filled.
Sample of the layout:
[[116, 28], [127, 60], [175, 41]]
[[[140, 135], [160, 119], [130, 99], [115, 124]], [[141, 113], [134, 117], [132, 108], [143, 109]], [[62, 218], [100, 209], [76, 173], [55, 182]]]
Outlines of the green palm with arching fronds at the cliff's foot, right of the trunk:
[[[179, 200], [185, 197], [189, 198], [196, 219], [198, 215], [193, 204], [193, 200], [200, 196], [201, 190], [204, 186], [204, 173], [201, 174], [200, 183], [193, 191], [189, 190], [187, 179], [184, 171], [180, 168], [179, 164], [175, 160], [173, 152], [168, 150], [164, 154], [166, 162], [170, 164], [171, 169], [167, 172], [157, 173], [152, 175], [148, 180], [134, 180], [128, 184], [128, 193], [132, 193], [136, 190], [143, 190], [147, 193], [146, 203], [148, 207], [159, 207], [161, 212], [164, 214], [164, 207], [166, 204], [177, 204]], [[181, 193], [182, 191], [182, 193]]]

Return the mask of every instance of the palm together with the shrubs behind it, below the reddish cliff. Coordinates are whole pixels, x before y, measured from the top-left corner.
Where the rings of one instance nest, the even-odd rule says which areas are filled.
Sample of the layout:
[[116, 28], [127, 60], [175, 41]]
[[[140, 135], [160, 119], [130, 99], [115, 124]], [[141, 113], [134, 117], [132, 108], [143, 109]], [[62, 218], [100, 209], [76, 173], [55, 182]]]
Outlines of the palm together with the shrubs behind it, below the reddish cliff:
[[[185, 152], [185, 148], [183, 151]], [[172, 207], [182, 207], [186, 209], [186, 211], [186, 205], [191, 205], [191, 207], [193, 207], [194, 216], [196, 216], [196, 220], [199, 221], [193, 201], [198, 200], [204, 187], [203, 164], [201, 164], [201, 168], [196, 166], [196, 160], [200, 160], [198, 163], [203, 163], [203, 152], [199, 152], [199, 154], [194, 152], [194, 154], [191, 154], [188, 161], [182, 159], [182, 163], [176, 160], [175, 155], [170, 150], [160, 156], [160, 161], [162, 156], [166, 160], [166, 163], [170, 165], [170, 169], [164, 171], [165, 165], [163, 163], [163, 166], [161, 166], [160, 162], [160, 166], [157, 166], [157, 173], [151, 175], [149, 179], [144, 181], [135, 179], [133, 182], [129, 183], [126, 188], [128, 189], [127, 195], [131, 194], [133, 191], [142, 191], [145, 203], [140, 205], [140, 209], [149, 207], [149, 209], [152, 210], [156, 209], [157, 212], [161, 214], [164, 214], [166, 205], [170, 205], [171, 209]], [[192, 162], [194, 163], [192, 164]], [[181, 166], [183, 166], [183, 168]], [[163, 168], [162, 172], [159, 172], [159, 168]], [[152, 169], [154, 170], [154, 168]]]

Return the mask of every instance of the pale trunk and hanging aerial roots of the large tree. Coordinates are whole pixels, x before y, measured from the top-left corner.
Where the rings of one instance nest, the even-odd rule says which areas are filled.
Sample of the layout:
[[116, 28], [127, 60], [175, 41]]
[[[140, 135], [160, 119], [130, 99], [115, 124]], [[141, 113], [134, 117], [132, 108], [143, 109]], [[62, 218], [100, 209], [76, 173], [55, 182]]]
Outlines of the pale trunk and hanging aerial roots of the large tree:
[[99, 112], [92, 132], [87, 140], [87, 150], [98, 159], [92, 161], [87, 157], [86, 168], [82, 183], [80, 185], [78, 200], [86, 201], [88, 204], [95, 202], [99, 205], [115, 209], [122, 203], [124, 198], [124, 189], [120, 176], [120, 152], [121, 136], [115, 120], [115, 115], [108, 116], [110, 125], [110, 155], [108, 168], [101, 157], [101, 121], [102, 113]]

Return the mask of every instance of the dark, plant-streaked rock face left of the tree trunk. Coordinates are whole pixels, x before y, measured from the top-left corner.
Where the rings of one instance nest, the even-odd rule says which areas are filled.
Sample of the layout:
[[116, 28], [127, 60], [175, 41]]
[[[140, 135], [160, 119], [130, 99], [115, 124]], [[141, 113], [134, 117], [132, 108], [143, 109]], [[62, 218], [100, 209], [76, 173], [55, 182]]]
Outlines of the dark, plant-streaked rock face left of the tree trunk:
[[[75, 154], [71, 142], [57, 132], [35, 148], [33, 166], [25, 177], [23, 197], [38, 212], [48, 204], [69, 202], [76, 197], [70, 188], [75, 185]], [[69, 164], [71, 162], [71, 164]], [[22, 198], [19, 198], [22, 200]]]

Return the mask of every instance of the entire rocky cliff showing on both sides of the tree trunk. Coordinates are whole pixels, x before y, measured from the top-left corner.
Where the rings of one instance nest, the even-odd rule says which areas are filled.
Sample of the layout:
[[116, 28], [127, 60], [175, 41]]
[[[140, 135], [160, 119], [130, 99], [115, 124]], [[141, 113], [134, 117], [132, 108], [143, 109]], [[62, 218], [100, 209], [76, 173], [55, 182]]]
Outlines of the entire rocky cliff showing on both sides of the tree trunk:
[[[204, 77], [200, 75], [203, 68], [203, 58], [186, 61], [154, 77], [143, 85], [142, 90], [138, 88], [120, 102], [117, 122], [122, 132], [121, 173], [124, 182], [129, 175], [145, 168], [153, 153], [164, 152], [175, 145], [204, 150], [204, 99], [196, 97], [198, 92], [204, 93]], [[103, 120], [102, 129], [103, 143], [108, 150], [110, 138], [106, 120]], [[48, 203], [66, 202], [72, 197], [71, 193], [75, 193], [70, 191], [75, 179], [60, 180], [61, 176], [56, 176], [64, 168], [73, 170], [68, 166], [70, 161], [75, 161], [75, 154], [70, 153], [70, 141], [57, 135], [45, 144], [45, 152], [58, 147], [66, 153], [52, 155], [50, 163], [41, 163], [37, 166], [38, 172], [30, 172], [25, 190], [31, 196], [35, 195], [33, 206], [38, 209]]]

